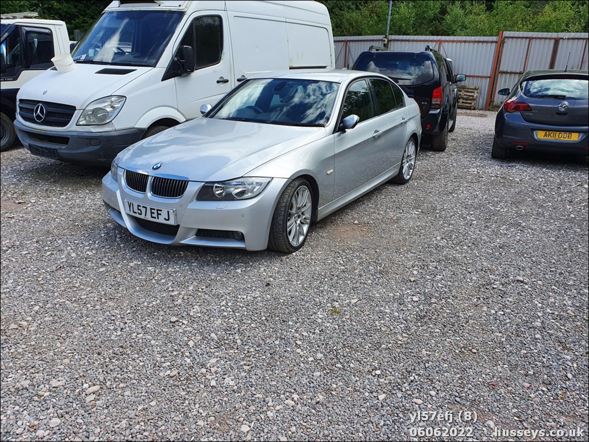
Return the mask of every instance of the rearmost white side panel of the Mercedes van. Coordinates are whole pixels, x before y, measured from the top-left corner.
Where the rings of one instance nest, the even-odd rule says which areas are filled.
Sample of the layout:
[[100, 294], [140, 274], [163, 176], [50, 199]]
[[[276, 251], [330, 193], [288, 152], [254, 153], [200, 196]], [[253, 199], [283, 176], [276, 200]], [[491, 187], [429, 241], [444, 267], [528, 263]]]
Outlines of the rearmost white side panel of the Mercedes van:
[[287, 23], [289, 67], [331, 67], [330, 35], [319, 26]]

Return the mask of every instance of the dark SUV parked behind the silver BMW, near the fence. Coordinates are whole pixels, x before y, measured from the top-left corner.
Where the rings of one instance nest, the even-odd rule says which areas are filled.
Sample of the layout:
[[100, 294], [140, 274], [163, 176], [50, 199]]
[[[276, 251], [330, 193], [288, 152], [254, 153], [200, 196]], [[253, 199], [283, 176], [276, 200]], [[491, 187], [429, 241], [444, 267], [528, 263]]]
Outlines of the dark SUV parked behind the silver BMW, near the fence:
[[391, 78], [421, 109], [422, 137], [432, 149], [446, 150], [448, 132], [456, 127], [458, 91], [463, 74], [454, 75], [452, 60], [426, 46], [422, 52], [365, 51], [352, 69], [379, 72]]

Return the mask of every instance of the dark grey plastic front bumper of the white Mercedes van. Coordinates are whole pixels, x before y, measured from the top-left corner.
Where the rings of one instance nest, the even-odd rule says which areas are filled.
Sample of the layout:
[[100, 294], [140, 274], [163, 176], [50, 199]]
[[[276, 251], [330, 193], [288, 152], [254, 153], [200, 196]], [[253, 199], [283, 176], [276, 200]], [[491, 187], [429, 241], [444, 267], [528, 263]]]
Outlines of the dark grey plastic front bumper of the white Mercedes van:
[[147, 129], [124, 129], [110, 132], [42, 131], [14, 122], [16, 135], [33, 155], [63, 162], [110, 166], [124, 148], [139, 141]]

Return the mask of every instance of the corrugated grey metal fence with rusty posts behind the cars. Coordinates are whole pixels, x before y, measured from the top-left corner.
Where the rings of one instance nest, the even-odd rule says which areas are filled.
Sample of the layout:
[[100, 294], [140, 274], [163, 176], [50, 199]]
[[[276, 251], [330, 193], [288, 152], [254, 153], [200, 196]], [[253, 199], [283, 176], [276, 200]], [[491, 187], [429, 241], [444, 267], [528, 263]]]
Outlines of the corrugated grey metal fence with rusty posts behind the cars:
[[[529, 69], [587, 69], [589, 34], [500, 32], [497, 37], [389, 36], [391, 51], [423, 51], [426, 45], [454, 62], [455, 74], [466, 74], [464, 84], [477, 85], [478, 109], [502, 102], [497, 91], [511, 88]], [[336, 68], [352, 68], [360, 52], [382, 45], [382, 36], [335, 37]]]

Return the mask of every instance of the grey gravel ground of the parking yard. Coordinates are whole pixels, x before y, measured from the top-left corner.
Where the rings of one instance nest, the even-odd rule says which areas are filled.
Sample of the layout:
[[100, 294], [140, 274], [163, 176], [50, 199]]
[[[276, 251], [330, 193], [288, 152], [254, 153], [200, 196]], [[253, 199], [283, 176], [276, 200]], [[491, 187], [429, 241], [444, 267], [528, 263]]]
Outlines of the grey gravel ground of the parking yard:
[[586, 435], [587, 159], [494, 160], [493, 125], [461, 111], [292, 255], [151, 244], [106, 171], [2, 152], [2, 440]]

